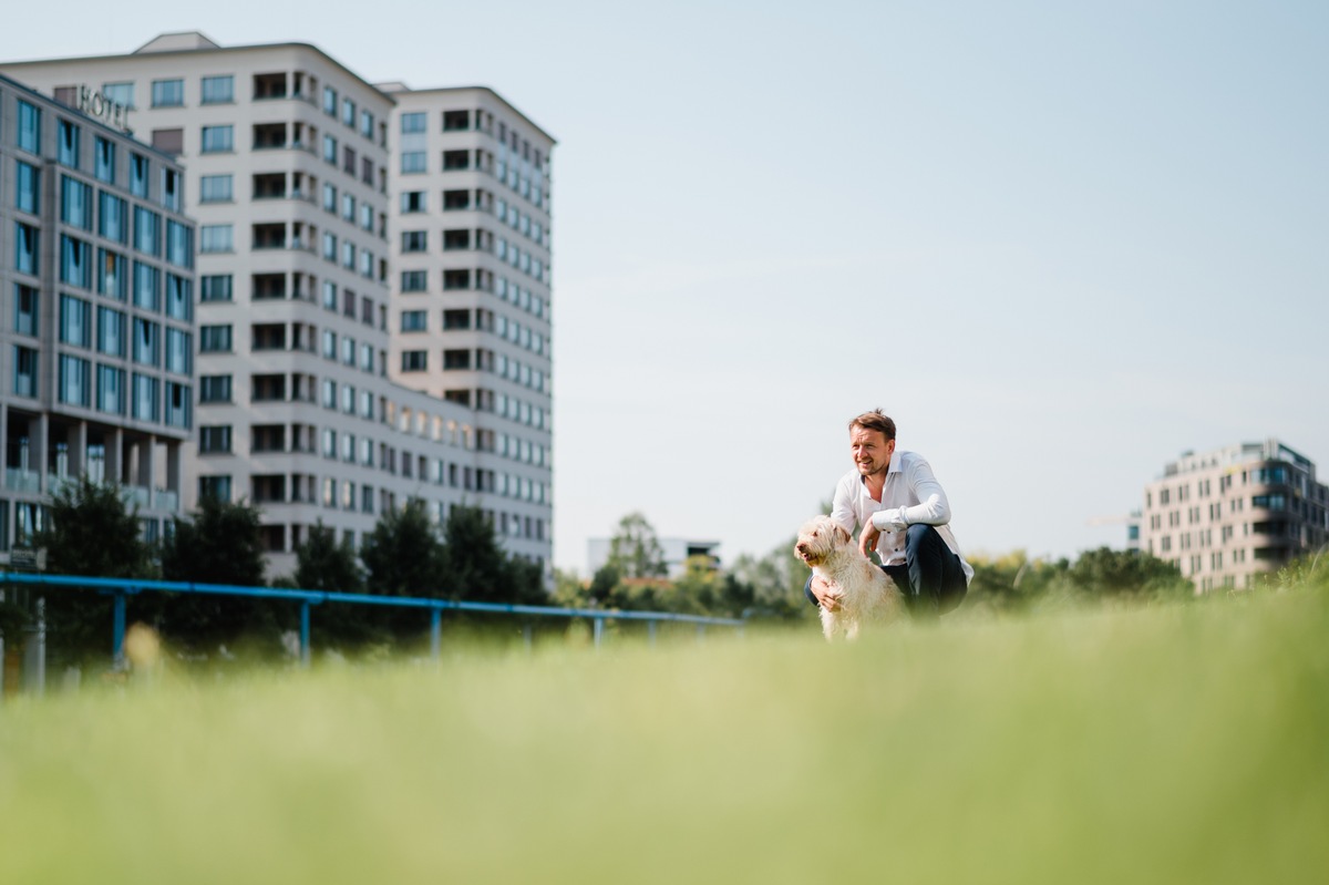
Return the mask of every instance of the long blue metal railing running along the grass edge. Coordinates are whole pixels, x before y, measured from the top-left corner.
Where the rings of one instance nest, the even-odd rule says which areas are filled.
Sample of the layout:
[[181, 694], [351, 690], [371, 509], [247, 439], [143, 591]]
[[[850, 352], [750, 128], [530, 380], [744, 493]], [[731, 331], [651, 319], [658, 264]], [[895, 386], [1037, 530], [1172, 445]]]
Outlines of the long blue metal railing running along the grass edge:
[[328, 593], [324, 590], [283, 590], [276, 587], [245, 587], [225, 583], [193, 583], [183, 581], [148, 581], [138, 578], [88, 578], [70, 574], [37, 574], [31, 571], [0, 573], [0, 583], [44, 587], [82, 587], [110, 594], [114, 601], [112, 614], [112, 655], [121, 666], [125, 656], [125, 599], [142, 591], [199, 593], [226, 597], [255, 597], [260, 599], [287, 599], [300, 603], [300, 662], [310, 662], [310, 606], [323, 602], [346, 602], [365, 606], [396, 606], [400, 609], [427, 609], [429, 611], [429, 651], [437, 658], [443, 647], [444, 611], [484, 611], [489, 614], [518, 614], [536, 618], [587, 618], [593, 625], [595, 646], [605, 635], [606, 621], [645, 621], [647, 635], [654, 642], [659, 622], [692, 623], [698, 634], [706, 627], [734, 627], [743, 634], [744, 621], [736, 618], [707, 618], [703, 615], [674, 614], [671, 611], [615, 611], [607, 609], [560, 609], [554, 606], [525, 606], [504, 602], [462, 602], [429, 599], [427, 597], [379, 597], [367, 593]]

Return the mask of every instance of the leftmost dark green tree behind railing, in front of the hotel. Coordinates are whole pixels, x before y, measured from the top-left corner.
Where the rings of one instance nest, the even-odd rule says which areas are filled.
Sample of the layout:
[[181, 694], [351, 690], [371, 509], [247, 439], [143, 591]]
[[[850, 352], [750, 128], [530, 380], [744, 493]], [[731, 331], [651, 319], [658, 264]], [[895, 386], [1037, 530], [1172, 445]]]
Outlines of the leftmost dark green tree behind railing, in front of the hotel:
[[[35, 545], [47, 550], [47, 570], [100, 578], [148, 578], [152, 551], [142, 540], [138, 512], [116, 484], [86, 476], [51, 496], [45, 528]], [[110, 650], [112, 599], [92, 590], [57, 589], [44, 594], [47, 629], [57, 654], [80, 659]], [[134, 601], [137, 609], [149, 603]]]

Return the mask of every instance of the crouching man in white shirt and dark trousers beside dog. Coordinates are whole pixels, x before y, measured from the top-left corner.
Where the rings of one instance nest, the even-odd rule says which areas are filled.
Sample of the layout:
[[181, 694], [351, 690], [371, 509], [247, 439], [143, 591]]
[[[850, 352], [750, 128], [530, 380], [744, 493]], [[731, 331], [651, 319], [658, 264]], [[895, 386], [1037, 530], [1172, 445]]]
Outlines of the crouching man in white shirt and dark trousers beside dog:
[[[831, 518], [851, 534], [863, 526], [859, 549], [881, 557], [909, 610], [929, 617], [950, 611], [969, 589], [974, 570], [960, 555], [950, 526], [950, 504], [928, 461], [896, 450], [896, 423], [881, 409], [849, 421], [853, 469], [835, 490]], [[808, 598], [835, 611], [839, 593], [821, 578], [805, 585]]]

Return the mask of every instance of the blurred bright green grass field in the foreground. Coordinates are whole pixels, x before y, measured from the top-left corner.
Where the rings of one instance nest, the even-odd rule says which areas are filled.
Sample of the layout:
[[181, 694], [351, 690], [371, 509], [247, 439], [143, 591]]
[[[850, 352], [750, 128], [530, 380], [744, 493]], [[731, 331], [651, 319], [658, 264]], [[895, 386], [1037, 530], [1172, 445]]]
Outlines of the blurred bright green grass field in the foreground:
[[1329, 594], [0, 707], [0, 882], [1324, 882]]

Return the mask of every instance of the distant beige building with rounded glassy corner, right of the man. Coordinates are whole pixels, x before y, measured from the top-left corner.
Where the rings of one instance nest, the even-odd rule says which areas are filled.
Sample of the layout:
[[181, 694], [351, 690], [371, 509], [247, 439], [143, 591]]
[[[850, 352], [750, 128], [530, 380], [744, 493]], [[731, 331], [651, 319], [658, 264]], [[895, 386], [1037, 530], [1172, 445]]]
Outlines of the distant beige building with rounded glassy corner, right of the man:
[[1187, 452], [1144, 486], [1140, 547], [1200, 591], [1248, 587], [1326, 541], [1329, 486], [1278, 440]]

